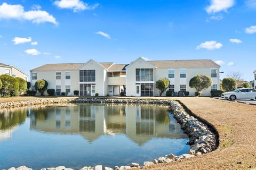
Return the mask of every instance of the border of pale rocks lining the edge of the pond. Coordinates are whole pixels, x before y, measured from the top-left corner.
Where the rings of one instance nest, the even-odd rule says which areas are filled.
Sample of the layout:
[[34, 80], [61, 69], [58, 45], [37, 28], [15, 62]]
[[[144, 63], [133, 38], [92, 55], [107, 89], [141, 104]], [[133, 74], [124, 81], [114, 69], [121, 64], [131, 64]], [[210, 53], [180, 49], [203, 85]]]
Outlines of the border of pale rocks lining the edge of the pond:
[[[143, 166], [150, 166], [154, 164], [163, 164], [171, 163], [180, 159], [186, 159], [195, 157], [197, 155], [206, 154], [215, 150], [218, 147], [218, 134], [211, 132], [213, 126], [207, 123], [204, 120], [201, 120], [199, 117], [195, 118], [194, 114], [189, 111], [186, 106], [181, 105], [178, 101], [175, 100], [160, 100], [160, 99], [102, 99], [102, 98], [77, 98], [77, 99], [57, 99], [57, 100], [29, 100], [29, 101], [12, 101], [7, 103], [0, 103], [0, 109], [3, 108], [14, 108], [14, 107], [24, 107], [24, 106], [35, 106], [35, 105], [52, 105], [52, 104], [65, 104], [65, 103], [110, 103], [110, 104], [160, 104], [170, 106], [172, 114], [177, 122], [181, 125], [183, 131], [188, 134], [189, 141], [186, 143], [190, 145], [190, 150], [188, 154], [182, 154], [180, 156], [175, 156], [173, 154], [165, 155], [159, 157], [150, 162], [144, 162]], [[182, 106], [187, 109], [191, 116]], [[201, 121], [199, 121], [199, 120]], [[204, 122], [204, 123], [202, 123]], [[208, 126], [207, 126], [208, 125]], [[137, 163], [131, 163], [126, 166], [121, 167], [102, 167], [102, 165], [97, 165], [94, 167], [83, 167], [80, 170], [123, 170], [140, 167]], [[26, 166], [20, 166], [18, 168], [11, 167], [9, 170], [32, 170]], [[66, 168], [64, 166], [53, 167], [53, 168], [42, 168], [41, 170], [73, 170], [71, 168]]]

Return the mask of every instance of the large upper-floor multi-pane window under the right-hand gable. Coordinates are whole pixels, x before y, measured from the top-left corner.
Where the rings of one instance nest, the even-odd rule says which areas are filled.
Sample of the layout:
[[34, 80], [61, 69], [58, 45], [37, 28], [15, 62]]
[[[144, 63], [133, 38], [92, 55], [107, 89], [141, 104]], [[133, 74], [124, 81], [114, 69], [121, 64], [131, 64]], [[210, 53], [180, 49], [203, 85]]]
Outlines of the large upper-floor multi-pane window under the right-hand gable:
[[136, 81], [154, 81], [153, 69], [136, 69]]

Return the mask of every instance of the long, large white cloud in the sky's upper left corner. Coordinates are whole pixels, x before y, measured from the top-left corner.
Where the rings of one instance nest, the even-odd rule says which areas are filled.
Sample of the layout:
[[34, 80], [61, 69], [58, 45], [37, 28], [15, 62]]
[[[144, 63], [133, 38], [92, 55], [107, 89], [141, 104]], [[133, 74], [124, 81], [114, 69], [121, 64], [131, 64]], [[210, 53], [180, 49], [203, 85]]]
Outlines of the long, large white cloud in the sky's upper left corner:
[[0, 19], [28, 20], [33, 23], [51, 22], [58, 24], [56, 19], [46, 11], [24, 11], [22, 5], [9, 5], [7, 3], [0, 5]]

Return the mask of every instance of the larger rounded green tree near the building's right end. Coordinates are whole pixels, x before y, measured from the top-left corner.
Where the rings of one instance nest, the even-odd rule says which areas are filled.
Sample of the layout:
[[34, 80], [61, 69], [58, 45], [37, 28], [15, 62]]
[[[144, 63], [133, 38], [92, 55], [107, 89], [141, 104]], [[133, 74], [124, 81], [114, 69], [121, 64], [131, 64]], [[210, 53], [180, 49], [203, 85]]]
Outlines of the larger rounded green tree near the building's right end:
[[202, 91], [212, 86], [212, 79], [208, 75], [196, 75], [189, 81], [189, 87], [195, 88], [197, 94], [200, 96]]

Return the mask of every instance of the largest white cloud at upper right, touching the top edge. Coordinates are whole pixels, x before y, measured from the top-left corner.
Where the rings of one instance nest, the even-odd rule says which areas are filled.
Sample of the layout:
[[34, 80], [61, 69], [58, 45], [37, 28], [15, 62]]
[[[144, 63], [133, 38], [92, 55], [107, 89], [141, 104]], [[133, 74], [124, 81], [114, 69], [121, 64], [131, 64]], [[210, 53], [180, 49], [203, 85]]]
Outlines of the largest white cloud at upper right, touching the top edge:
[[228, 8], [235, 5], [235, 0], [211, 0], [211, 5], [205, 8], [206, 12], [217, 13], [221, 11], [227, 12]]

